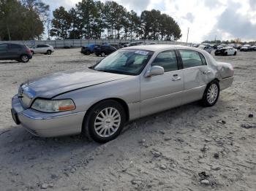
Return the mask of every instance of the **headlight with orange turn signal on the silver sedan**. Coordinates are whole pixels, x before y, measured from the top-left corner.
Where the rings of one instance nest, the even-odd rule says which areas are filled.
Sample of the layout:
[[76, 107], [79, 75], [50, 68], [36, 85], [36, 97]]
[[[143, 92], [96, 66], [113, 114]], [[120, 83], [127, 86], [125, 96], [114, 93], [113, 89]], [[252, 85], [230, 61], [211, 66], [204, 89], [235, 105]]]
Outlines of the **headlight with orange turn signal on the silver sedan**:
[[75, 109], [75, 104], [71, 99], [64, 100], [47, 100], [36, 99], [31, 106], [32, 109], [36, 109], [40, 112], [66, 112]]

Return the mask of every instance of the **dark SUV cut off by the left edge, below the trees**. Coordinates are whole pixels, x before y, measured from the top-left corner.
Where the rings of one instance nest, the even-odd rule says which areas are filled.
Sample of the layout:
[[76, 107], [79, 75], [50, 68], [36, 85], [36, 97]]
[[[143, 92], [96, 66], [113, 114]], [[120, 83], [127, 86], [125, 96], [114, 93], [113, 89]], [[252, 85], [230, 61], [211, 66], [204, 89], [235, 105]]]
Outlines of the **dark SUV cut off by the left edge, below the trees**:
[[0, 60], [15, 60], [27, 63], [32, 58], [31, 50], [23, 44], [0, 44]]

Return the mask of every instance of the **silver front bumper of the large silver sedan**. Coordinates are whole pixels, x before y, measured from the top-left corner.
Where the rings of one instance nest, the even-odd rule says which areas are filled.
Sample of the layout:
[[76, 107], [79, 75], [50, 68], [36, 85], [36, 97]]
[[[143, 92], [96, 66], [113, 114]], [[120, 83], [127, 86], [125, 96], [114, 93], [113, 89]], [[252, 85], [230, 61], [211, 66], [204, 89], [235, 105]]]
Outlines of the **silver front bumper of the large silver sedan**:
[[24, 109], [20, 98], [12, 98], [12, 117], [35, 136], [53, 137], [79, 134], [86, 112], [44, 113]]

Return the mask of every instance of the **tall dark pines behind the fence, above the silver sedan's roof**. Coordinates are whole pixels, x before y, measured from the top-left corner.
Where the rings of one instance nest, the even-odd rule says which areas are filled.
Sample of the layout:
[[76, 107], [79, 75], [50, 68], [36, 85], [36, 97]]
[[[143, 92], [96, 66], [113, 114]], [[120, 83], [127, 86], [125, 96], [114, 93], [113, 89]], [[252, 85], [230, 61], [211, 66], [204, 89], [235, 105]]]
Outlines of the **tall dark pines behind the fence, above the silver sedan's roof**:
[[181, 29], [173, 17], [159, 10], [145, 10], [138, 16], [115, 1], [83, 0], [69, 10], [53, 11], [49, 35], [56, 39], [177, 40]]

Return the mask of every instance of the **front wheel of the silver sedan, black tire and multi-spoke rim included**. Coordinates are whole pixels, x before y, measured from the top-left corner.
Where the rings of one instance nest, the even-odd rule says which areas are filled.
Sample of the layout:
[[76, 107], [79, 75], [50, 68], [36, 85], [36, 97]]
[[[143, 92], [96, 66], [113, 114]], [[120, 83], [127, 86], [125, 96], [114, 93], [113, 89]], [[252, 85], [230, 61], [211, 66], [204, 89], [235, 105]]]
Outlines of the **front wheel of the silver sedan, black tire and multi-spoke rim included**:
[[116, 139], [125, 122], [126, 114], [121, 104], [112, 100], [101, 101], [84, 118], [82, 134], [99, 143], [105, 143]]

